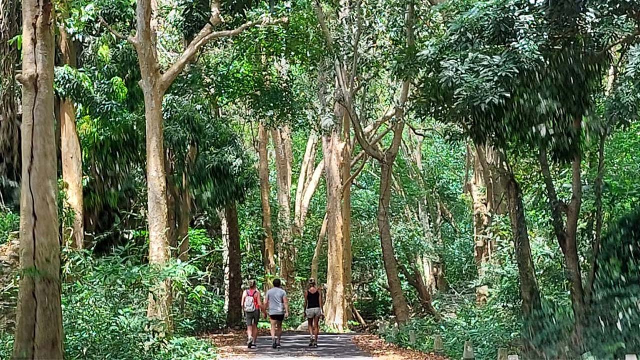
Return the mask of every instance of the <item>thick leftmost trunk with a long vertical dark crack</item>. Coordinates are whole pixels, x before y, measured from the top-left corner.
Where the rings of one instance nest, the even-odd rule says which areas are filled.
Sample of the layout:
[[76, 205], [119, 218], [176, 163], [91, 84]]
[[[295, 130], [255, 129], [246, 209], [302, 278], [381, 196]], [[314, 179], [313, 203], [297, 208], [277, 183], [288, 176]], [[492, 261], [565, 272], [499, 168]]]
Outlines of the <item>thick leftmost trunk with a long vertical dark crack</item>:
[[54, 6], [22, 1], [20, 290], [13, 359], [62, 359]]

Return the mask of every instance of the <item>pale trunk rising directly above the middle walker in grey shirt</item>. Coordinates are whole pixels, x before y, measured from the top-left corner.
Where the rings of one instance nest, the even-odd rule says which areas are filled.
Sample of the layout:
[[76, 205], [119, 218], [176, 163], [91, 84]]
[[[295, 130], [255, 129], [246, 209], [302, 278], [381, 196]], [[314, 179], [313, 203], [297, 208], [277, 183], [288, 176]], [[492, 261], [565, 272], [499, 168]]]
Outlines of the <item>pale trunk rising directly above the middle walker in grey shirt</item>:
[[287, 286], [294, 282], [294, 263], [291, 231], [291, 159], [287, 150], [285, 130], [273, 130], [273, 144], [276, 151], [276, 173], [278, 185], [278, 228], [280, 233], [280, 277]]

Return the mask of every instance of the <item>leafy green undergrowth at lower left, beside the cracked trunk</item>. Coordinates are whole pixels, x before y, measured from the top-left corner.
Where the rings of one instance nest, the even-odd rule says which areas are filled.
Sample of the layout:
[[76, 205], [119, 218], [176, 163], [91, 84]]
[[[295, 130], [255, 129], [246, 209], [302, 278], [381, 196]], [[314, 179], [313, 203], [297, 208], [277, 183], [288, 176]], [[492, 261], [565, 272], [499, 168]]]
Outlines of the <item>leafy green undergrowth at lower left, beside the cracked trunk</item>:
[[[185, 286], [198, 272], [187, 264], [173, 264], [163, 274], [142, 263], [143, 252], [134, 247], [116, 249], [95, 258], [90, 252], [63, 252], [63, 325], [65, 358], [83, 360], [210, 360], [214, 348], [193, 338], [191, 326], [177, 327], [172, 338], [148, 332], [147, 297], [150, 284], [171, 276], [182, 284], [177, 299], [185, 299], [184, 318], [206, 308], [219, 309], [220, 299], [198, 288]], [[210, 311], [209, 313], [212, 313]], [[182, 322], [182, 319], [180, 319]], [[11, 355], [13, 336], [0, 335], [0, 359]]]

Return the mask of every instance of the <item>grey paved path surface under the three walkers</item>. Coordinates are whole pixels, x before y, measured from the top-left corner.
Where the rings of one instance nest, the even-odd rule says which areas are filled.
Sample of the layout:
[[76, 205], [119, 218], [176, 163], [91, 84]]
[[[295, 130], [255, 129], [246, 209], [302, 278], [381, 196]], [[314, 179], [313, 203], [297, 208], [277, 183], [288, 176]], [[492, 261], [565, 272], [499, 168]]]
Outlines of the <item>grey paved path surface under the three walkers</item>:
[[271, 347], [271, 337], [258, 338], [258, 347], [249, 350], [246, 345], [234, 347], [234, 354], [223, 355], [223, 359], [271, 360], [271, 359], [342, 359], [372, 360], [351, 341], [351, 335], [321, 335], [319, 347], [310, 348], [308, 334], [282, 334], [282, 348]]

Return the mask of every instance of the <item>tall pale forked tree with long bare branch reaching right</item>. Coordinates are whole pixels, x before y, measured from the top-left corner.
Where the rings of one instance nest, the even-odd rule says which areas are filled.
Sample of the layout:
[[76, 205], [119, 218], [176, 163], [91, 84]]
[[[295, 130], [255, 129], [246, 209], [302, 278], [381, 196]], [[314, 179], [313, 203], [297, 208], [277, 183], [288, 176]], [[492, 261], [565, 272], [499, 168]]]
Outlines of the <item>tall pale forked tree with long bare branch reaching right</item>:
[[[136, 8], [136, 36], [125, 37], [113, 30], [104, 20], [102, 23], [116, 37], [127, 40], [136, 49], [140, 64], [141, 81], [147, 120], [147, 195], [149, 227], [149, 260], [154, 266], [164, 266], [170, 259], [167, 236], [168, 204], [166, 191], [166, 169], [164, 164], [164, 94], [175, 79], [193, 61], [202, 47], [216, 38], [234, 37], [257, 25], [273, 23], [270, 19], [246, 22], [236, 29], [214, 31], [223, 24], [220, 1], [211, 2], [211, 17], [195, 35], [179, 58], [164, 72], [161, 71], [157, 51], [159, 8], [156, 0], [138, 0]], [[277, 20], [283, 22], [285, 20]], [[170, 316], [172, 307], [171, 284], [163, 281], [149, 295], [148, 316], [162, 320], [167, 329], [173, 328]]]

